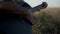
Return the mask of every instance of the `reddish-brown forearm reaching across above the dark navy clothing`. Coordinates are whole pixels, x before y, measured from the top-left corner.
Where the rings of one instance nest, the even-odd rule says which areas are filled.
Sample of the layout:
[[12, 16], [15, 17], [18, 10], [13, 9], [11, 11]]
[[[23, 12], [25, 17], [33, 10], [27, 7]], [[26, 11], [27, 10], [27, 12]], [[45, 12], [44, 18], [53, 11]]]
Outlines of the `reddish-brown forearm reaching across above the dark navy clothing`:
[[0, 3], [0, 6], [1, 6], [0, 9], [9, 10], [9, 12], [15, 13], [18, 15], [28, 15], [29, 14], [29, 11], [26, 8], [21, 7], [21, 6], [17, 7], [11, 2]]

